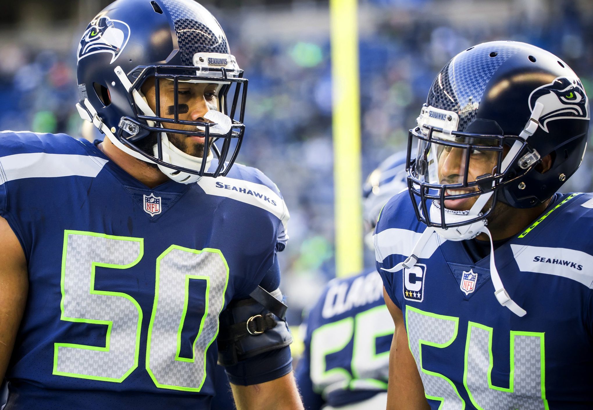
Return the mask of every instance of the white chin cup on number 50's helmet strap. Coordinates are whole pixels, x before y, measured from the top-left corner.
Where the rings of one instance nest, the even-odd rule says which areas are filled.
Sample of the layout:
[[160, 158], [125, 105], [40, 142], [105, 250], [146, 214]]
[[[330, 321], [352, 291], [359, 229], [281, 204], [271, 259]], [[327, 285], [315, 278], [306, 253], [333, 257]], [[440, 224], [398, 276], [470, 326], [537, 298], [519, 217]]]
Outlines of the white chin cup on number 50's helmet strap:
[[[175, 164], [180, 167], [184, 167], [191, 170], [199, 171], [202, 167], [202, 158], [194, 157], [193, 155], [186, 154], [185, 152], [181, 151], [175, 145], [171, 144], [169, 138], [167, 137], [166, 132], [161, 132], [161, 147], [162, 147], [162, 160], [166, 163]], [[158, 146], [155, 144], [154, 148], [154, 156], [158, 157]], [[208, 157], [206, 157], [206, 166], [204, 169], [208, 171], [210, 164], [212, 162], [213, 154], [212, 150], [209, 150]], [[158, 169], [164, 173], [166, 176], [170, 177], [175, 182], [180, 182], [184, 184], [190, 184], [198, 182], [202, 177], [196, 174], [190, 174], [189, 172], [183, 172], [174, 170], [172, 168], [168, 168], [162, 166], [161, 164], [157, 164]]]

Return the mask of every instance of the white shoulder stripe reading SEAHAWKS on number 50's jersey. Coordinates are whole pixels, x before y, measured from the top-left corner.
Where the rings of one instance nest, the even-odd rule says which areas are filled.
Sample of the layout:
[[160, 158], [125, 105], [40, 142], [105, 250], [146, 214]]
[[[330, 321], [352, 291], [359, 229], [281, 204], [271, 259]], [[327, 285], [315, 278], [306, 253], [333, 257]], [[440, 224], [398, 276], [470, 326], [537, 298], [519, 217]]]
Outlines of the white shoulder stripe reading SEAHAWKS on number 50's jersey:
[[[282, 221], [285, 232], [288, 232], [287, 224], [290, 218], [288, 208], [284, 200], [269, 187], [229, 177], [202, 178], [197, 185], [202, 187], [208, 195], [226, 196], [235, 201], [266, 209]], [[288, 238], [288, 235], [286, 237]]]

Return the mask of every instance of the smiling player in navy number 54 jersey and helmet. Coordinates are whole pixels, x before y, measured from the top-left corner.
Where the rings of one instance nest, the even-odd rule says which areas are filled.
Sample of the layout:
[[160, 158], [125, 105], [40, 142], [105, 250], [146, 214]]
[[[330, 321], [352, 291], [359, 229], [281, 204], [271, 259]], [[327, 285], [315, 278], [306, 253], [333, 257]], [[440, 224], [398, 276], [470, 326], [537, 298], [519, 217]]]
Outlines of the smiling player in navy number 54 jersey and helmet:
[[589, 116], [575, 72], [538, 47], [483, 43], [439, 72], [409, 193], [375, 233], [388, 409], [593, 408], [593, 195], [557, 193]]

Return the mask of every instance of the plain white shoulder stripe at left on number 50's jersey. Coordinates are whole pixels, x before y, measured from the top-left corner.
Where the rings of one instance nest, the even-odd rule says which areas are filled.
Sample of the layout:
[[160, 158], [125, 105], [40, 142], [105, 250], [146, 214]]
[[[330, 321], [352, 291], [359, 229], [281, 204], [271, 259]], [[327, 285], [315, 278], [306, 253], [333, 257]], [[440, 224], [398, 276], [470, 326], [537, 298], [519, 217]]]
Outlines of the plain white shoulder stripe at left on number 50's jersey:
[[0, 157], [0, 185], [23, 178], [95, 177], [107, 160], [91, 155], [29, 152]]

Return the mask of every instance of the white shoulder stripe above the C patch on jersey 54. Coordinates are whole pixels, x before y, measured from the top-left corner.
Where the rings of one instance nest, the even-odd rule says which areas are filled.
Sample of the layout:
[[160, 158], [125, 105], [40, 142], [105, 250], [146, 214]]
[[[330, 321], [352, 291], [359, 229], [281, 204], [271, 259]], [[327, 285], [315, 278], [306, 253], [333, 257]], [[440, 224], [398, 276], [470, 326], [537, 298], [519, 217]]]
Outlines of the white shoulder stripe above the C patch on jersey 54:
[[[420, 236], [422, 236], [422, 232], [400, 228], [389, 228], [381, 231], [374, 236], [375, 260], [383, 262], [389, 255], [403, 255], [406, 257], [412, 255], [412, 250]], [[420, 251], [420, 255], [416, 256], [422, 259], [430, 258], [445, 240], [441, 238], [439, 241], [438, 234], [433, 233], [426, 246]]]

